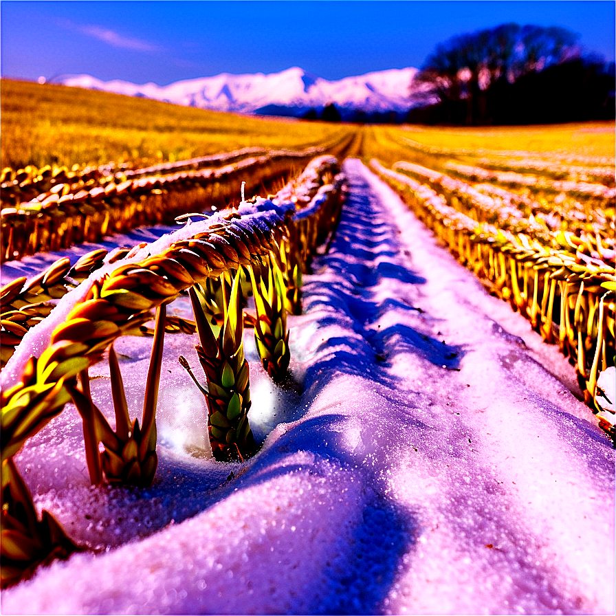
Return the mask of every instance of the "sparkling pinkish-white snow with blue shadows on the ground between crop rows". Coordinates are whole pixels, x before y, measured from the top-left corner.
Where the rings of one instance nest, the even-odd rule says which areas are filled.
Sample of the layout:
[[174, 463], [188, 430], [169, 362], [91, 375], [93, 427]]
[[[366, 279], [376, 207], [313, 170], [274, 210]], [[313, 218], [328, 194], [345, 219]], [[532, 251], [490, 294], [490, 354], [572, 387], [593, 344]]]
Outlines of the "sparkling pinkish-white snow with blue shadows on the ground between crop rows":
[[[296, 385], [272, 386], [245, 337], [259, 454], [212, 460], [177, 364], [201, 375], [195, 341], [166, 336], [153, 487], [90, 487], [70, 407], [19, 455], [37, 505], [95, 551], [4, 591], [3, 613], [613, 613], [614, 450], [573, 369], [344, 169], [289, 318]], [[149, 344], [117, 344], [133, 416]], [[104, 362], [91, 373], [109, 413]]]

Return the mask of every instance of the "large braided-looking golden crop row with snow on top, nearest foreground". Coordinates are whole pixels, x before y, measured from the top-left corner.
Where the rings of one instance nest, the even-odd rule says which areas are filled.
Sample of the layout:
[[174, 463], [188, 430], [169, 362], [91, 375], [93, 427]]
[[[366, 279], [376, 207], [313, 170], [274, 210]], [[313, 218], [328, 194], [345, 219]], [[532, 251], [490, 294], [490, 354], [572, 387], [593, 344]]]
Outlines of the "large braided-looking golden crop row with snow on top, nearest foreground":
[[[331, 183], [325, 184], [325, 179]], [[248, 285], [254, 294], [252, 321], [263, 366], [275, 382], [281, 382], [289, 362], [287, 305], [297, 298], [289, 290], [296, 290], [305, 256], [335, 230], [345, 190], [336, 159], [321, 157], [309, 165], [304, 181], [286, 186], [277, 197], [255, 197], [236, 209], [191, 221], [170, 234], [166, 248], [155, 254], [149, 247], [136, 248], [124, 259], [103, 265], [100, 255], [93, 257], [92, 267], [100, 267], [68, 293], [67, 287], [76, 282], [72, 276], [83, 277], [92, 267], [66, 272], [56, 262], [36, 281], [21, 280], [1, 289], [3, 305], [18, 310], [20, 301], [36, 299], [37, 290], [43, 297], [65, 294], [62, 305], [27, 334], [3, 371], [3, 586], [28, 577], [39, 564], [83, 549], [50, 514], [43, 511], [42, 520], [37, 518], [13, 461], [23, 443], [67, 402], [73, 401], [83, 419], [92, 483], [151, 485], [157, 467], [155, 409], [166, 306], [181, 293], [190, 294], [206, 384], [200, 384], [184, 358], [179, 361], [206, 398], [212, 454], [222, 461], [254, 454], [248, 419], [249, 369], [243, 357], [247, 319], [243, 289]], [[221, 314], [212, 315], [210, 307], [217, 304]], [[113, 342], [140, 333], [152, 309], [156, 319], [144, 412], [141, 421], [131, 420]], [[39, 358], [31, 357], [31, 349], [41, 344], [46, 348]], [[104, 353], [111, 374], [115, 430], [89, 393], [89, 366], [102, 360]]]

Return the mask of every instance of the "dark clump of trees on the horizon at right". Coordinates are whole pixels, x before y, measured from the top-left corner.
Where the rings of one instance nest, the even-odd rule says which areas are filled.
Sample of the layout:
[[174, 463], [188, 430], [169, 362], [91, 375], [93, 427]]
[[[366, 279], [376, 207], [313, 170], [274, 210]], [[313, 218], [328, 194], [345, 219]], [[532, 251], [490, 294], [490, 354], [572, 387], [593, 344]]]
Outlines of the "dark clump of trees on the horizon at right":
[[615, 118], [614, 63], [565, 28], [507, 23], [437, 45], [415, 75], [408, 122], [539, 124]]

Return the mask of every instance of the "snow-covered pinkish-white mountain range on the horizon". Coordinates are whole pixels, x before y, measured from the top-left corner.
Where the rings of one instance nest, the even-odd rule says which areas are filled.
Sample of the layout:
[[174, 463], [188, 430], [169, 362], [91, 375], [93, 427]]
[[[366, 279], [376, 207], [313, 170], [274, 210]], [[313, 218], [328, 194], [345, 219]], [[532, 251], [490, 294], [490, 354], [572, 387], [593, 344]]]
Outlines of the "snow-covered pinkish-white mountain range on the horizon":
[[333, 102], [342, 111], [383, 113], [404, 112], [413, 107], [411, 82], [416, 72], [417, 69], [409, 67], [329, 81], [293, 67], [268, 75], [221, 73], [166, 86], [101, 81], [89, 75], [63, 76], [56, 81], [214, 111], [302, 115], [309, 109], [321, 110]]

